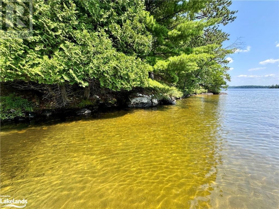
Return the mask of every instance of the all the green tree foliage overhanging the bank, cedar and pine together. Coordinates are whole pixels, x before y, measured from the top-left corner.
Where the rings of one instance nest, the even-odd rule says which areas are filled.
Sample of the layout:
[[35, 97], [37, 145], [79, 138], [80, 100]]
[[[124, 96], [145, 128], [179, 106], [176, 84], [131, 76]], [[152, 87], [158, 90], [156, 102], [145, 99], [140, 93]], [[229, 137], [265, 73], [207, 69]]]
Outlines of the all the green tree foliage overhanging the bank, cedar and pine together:
[[0, 81], [147, 87], [174, 97], [199, 86], [218, 93], [230, 80], [226, 57], [235, 52], [223, 47], [229, 34], [219, 28], [236, 18], [231, 3], [33, 1], [33, 36], [0, 39]]

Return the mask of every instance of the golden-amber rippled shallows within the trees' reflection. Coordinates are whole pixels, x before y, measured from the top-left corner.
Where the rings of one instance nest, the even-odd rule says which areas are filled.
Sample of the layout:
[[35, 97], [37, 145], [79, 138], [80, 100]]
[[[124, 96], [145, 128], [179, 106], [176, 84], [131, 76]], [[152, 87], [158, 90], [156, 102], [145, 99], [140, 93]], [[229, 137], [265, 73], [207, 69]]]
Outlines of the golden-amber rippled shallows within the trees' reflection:
[[223, 136], [206, 100], [6, 129], [1, 194], [30, 208], [210, 208]]

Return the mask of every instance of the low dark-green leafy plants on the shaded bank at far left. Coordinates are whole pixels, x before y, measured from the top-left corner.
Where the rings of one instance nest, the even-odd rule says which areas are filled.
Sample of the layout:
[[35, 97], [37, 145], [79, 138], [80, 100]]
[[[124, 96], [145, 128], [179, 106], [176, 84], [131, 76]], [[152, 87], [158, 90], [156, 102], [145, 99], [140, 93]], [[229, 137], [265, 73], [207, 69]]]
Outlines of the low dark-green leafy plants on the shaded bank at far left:
[[1, 120], [22, 117], [25, 115], [25, 111], [33, 111], [33, 104], [27, 99], [15, 96], [15, 94], [0, 97]]

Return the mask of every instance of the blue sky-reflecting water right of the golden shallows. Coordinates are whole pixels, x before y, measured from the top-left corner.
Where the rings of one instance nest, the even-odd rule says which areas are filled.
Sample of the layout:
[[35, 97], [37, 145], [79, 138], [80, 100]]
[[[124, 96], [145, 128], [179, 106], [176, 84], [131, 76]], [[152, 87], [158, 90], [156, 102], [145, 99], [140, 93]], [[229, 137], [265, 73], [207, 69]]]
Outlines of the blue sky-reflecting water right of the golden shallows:
[[[214, 208], [279, 208], [279, 91], [230, 89], [222, 127], [226, 140]], [[222, 101], [227, 99], [227, 101]]]

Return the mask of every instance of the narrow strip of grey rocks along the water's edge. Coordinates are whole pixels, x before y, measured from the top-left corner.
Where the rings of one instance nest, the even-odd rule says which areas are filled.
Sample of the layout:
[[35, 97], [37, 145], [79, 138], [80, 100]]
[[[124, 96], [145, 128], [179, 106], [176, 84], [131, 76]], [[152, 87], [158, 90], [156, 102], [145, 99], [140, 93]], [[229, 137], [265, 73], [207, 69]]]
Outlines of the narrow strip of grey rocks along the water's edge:
[[[219, 93], [221, 95], [227, 93]], [[32, 120], [49, 120], [52, 118], [67, 118], [67, 117], [76, 117], [76, 116], [90, 116], [92, 114], [98, 112], [104, 112], [107, 110], [119, 110], [124, 108], [149, 108], [156, 107], [160, 105], [175, 105], [176, 100], [184, 99], [190, 96], [195, 95], [213, 95], [213, 93], [201, 93], [201, 94], [189, 94], [185, 97], [174, 98], [174, 97], [166, 97], [163, 99], [157, 99], [152, 95], [145, 95], [136, 93], [130, 95], [128, 100], [124, 103], [124, 105], [112, 105], [104, 102], [99, 102], [97, 105], [89, 105], [86, 108], [61, 108], [61, 109], [44, 109], [35, 112], [26, 112], [24, 117], [16, 117], [0, 120], [1, 125], [3, 124], [12, 124], [12, 123], [22, 123], [22, 122], [30, 122]], [[13, 110], [10, 110], [13, 111]]]

